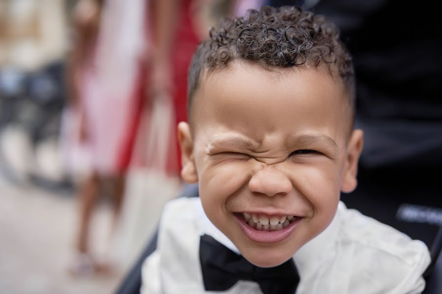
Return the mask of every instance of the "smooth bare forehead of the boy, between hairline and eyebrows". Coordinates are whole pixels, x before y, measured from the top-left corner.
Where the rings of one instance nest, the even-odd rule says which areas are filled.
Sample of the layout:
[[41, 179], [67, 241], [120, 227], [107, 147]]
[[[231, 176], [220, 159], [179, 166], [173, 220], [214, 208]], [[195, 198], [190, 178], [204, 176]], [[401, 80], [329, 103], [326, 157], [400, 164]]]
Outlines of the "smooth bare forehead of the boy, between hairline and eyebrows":
[[193, 99], [194, 135], [233, 131], [261, 142], [269, 134], [337, 137], [348, 129], [343, 83], [321, 68], [234, 61], [205, 73]]

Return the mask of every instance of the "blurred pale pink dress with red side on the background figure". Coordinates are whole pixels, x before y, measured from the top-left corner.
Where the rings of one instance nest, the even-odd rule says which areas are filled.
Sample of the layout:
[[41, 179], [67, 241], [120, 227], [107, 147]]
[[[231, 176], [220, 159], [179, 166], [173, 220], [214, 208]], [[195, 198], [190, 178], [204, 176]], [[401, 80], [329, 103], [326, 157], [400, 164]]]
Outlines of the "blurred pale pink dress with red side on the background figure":
[[[115, 175], [128, 169], [143, 96], [145, 0], [108, 0], [100, 31], [77, 77], [81, 111], [66, 109], [62, 144], [71, 170]], [[80, 141], [80, 117], [86, 138]], [[79, 164], [81, 163], [81, 164]]]

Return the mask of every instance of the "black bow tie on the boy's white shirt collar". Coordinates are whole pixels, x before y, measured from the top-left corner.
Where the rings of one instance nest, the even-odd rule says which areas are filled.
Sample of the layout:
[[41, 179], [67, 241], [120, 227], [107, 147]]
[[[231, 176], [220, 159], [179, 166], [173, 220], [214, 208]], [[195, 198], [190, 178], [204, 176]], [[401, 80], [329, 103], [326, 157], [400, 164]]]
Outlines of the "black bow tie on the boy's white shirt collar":
[[293, 259], [259, 268], [209, 235], [199, 240], [199, 260], [206, 291], [226, 291], [239, 280], [255, 281], [264, 294], [293, 294], [299, 275]]

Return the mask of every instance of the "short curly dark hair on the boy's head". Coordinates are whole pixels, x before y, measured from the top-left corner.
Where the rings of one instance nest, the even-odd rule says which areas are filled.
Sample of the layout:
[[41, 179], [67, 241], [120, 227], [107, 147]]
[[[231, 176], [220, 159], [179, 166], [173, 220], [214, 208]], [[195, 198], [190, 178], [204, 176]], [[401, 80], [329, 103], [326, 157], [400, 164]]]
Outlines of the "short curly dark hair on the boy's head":
[[234, 59], [266, 69], [325, 66], [342, 78], [354, 100], [354, 70], [350, 54], [339, 41], [339, 29], [322, 15], [296, 6], [250, 9], [245, 17], [223, 19], [196, 49], [188, 76], [188, 113], [201, 73], [226, 66]]

